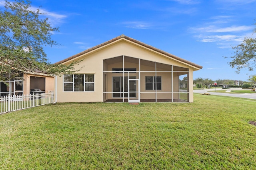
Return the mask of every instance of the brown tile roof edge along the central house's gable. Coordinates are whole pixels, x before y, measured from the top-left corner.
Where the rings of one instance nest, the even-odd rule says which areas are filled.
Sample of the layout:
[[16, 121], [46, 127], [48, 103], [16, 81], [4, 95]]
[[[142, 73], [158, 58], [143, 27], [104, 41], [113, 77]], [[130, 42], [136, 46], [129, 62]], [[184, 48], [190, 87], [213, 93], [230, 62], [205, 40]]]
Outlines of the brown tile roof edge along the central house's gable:
[[90, 52], [90, 51], [96, 50], [96, 49], [98, 49], [98, 48], [100, 48], [100, 47], [103, 47], [103, 46], [105, 46], [105, 45], [108, 45], [108, 44], [110, 44], [110, 43], [112, 43], [112, 42], [114, 42], [114, 41], [117, 41], [118, 39], [122, 39], [122, 38], [127, 39], [127, 40], [129, 40], [129, 41], [132, 41], [132, 42], [134, 42], [134, 43], [137, 43], [137, 44], [139, 44], [139, 45], [142, 45], [142, 46], [144, 46], [144, 47], [146, 47], [146, 48], [148, 48], [148, 49], [152, 49], [153, 51], [156, 51], [156, 52], [158, 52], [158, 53], [162, 53], [162, 54], [164, 54], [164, 55], [167, 55], [167, 56], [170, 57], [170, 58], [176, 59], [176, 60], [181, 61], [181, 62], [184, 62], [184, 63], [186, 63], [186, 64], [190, 64], [190, 65], [195, 66], [195, 67], [200, 68], [200, 69], [203, 68], [202, 66], [200, 66], [200, 65], [198, 65], [198, 64], [195, 64], [195, 63], [192, 63], [192, 62], [187, 61], [187, 60], [185, 60], [185, 59], [182, 59], [182, 58], [180, 58], [180, 57], [177, 57], [177, 56], [175, 56], [175, 55], [172, 55], [172, 54], [170, 54], [170, 53], [167, 53], [167, 52], [165, 52], [165, 51], [162, 51], [162, 50], [160, 50], [160, 49], [157, 49], [157, 48], [155, 48], [155, 47], [152, 47], [151, 45], [147, 45], [147, 44], [145, 44], [145, 43], [142, 43], [142, 42], [140, 42], [140, 41], [138, 41], [138, 40], [136, 40], [136, 39], [133, 39], [133, 38], [128, 37], [128, 36], [123, 35], [123, 34], [120, 35], [120, 36], [118, 36], [118, 37], [115, 37], [115, 38], [113, 38], [113, 39], [110, 39], [109, 41], [106, 41], [106, 42], [104, 42], [104, 43], [101, 43], [100, 45], [96, 45], [96, 46], [94, 46], [94, 47], [92, 47], [92, 48], [90, 48], [90, 49], [87, 49], [87, 50], [85, 50], [85, 51], [82, 51], [81, 53], [78, 53], [78, 54], [76, 54], [76, 55], [73, 55], [73, 56], [71, 56], [71, 57], [68, 57], [67, 59], [64, 59], [64, 60], [62, 60], [62, 61], [59, 61], [59, 62], [57, 62], [56, 64], [61, 64], [61, 63], [64, 63], [64, 62], [66, 62], [66, 61], [70, 61], [70, 60], [72, 60], [72, 59], [75, 59], [76, 57], [79, 57], [79, 56], [81, 56], [81, 55], [84, 55], [84, 54], [86, 54], [86, 53], [88, 53], [88, 52]]

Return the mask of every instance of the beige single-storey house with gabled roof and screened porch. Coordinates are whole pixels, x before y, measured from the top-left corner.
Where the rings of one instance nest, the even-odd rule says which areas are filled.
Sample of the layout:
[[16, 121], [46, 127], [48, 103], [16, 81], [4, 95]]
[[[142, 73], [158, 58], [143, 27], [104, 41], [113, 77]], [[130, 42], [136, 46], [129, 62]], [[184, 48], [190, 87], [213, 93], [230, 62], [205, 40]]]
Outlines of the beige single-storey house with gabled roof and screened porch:
[[80, 60], [75, 74], [56, 78], [57, 102], [193, 102], [193, 71], [202, 68], [125, 35], [58, 64]]

